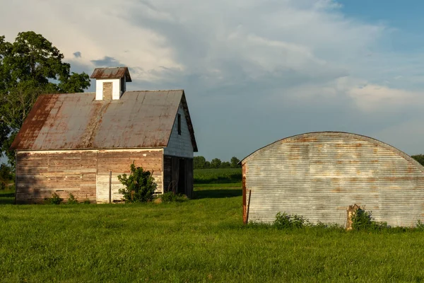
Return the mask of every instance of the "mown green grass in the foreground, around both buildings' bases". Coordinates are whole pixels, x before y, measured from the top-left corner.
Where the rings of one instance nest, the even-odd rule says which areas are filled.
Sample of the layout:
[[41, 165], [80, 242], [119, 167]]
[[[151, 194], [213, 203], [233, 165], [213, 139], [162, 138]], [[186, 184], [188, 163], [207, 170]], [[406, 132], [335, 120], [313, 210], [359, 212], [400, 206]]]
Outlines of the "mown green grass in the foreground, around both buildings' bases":
[[0, 282], [424, 282], [423, 232], [243, 226], [240, 183], [195, 196], [0, 205]]

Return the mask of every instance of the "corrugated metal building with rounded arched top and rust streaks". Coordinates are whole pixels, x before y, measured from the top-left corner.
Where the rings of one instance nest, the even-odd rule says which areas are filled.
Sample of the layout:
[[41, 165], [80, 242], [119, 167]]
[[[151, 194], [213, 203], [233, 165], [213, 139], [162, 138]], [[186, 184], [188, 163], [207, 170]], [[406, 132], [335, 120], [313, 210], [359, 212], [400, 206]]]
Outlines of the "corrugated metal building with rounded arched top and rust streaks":
[[353, 204], [391, 226], [424, 219], [424, 167], [377, 139], [345, 132], [299, 134], [264, 146], [241, 163], [245, 223], [270, 223], [286, 212], [344, 226]]

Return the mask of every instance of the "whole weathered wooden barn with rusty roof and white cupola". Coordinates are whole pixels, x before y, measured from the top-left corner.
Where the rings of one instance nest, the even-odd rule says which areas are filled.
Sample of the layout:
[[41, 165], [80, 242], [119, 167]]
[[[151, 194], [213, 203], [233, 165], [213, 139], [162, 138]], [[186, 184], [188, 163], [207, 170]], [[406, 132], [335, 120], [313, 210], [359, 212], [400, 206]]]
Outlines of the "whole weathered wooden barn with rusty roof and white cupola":
[[98, 68], [95, 93], [40, 96], [11, 149], [16, 202], [121, 200], [117, 175], [131, 163], [153, 172], [157, 194], [193, 192], [197, 151], [184, 91], [126, 91], [126, 67]]

